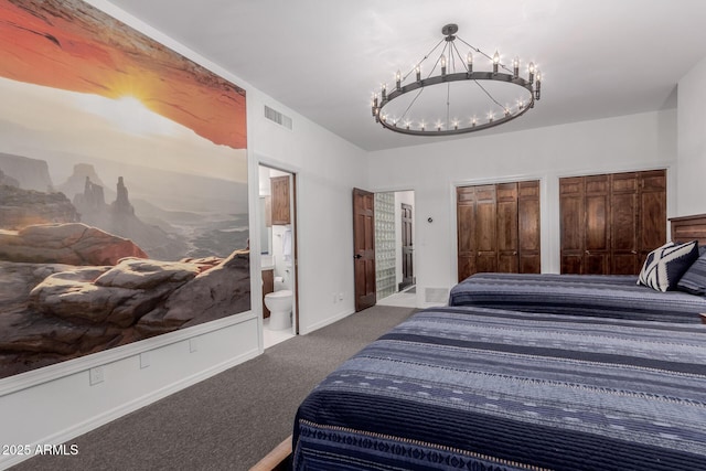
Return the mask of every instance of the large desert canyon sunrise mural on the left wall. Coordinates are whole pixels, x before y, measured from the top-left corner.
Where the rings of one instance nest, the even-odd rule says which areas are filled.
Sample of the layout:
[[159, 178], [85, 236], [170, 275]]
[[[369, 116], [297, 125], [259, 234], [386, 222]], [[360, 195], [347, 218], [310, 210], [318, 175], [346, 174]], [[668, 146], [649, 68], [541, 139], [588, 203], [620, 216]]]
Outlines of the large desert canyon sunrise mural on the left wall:
[[0, 378], [250, 309], [245, 90], [0, 0]]

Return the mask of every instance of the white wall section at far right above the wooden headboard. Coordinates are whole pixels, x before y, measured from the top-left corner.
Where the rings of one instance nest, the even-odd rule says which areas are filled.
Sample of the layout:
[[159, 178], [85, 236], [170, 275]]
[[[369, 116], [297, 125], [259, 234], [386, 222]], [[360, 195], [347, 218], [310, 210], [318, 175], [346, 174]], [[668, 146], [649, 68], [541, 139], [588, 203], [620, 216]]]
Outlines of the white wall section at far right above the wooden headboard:
[[706, 58], [678, 84], [678, 188], [675, 216], [706, 213]]

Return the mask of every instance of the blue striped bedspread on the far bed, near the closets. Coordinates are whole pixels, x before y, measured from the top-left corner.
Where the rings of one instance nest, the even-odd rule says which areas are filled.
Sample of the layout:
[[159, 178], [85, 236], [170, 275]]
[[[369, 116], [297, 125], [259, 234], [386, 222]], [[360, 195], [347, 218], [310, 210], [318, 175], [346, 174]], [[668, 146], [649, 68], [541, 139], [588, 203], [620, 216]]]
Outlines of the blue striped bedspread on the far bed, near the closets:
[[686, 323], [706, 313], [704, 297], [637, 281], [632, 275], [475, 274], [451, 289], [449, 306]]

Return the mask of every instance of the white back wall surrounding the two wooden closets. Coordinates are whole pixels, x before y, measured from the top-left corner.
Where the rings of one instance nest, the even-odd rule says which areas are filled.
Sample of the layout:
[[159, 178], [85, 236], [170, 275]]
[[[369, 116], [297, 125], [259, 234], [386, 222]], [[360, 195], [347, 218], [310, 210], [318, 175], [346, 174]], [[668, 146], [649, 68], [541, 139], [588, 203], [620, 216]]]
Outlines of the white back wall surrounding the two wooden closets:
[[[676, 111], [665, 110], [370, 154], [370, 190], [415, 191], [417, 306], [427, 288], [456, 283], [456, 200], [461, 184], [542, 182], [542, 270], [559, 270], [560, 176], [666, 168], [673, 212]], [[431, 217], [432, 223], [427, 218]]]

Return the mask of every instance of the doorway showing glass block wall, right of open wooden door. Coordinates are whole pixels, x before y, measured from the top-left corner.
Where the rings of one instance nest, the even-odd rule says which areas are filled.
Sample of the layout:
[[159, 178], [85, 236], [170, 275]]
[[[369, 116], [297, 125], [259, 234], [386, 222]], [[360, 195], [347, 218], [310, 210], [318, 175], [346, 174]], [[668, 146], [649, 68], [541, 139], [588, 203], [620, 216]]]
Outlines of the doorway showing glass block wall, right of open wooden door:
[[375, 193], [375, 285], [377, 304], [414, 308], [415, 192]]

